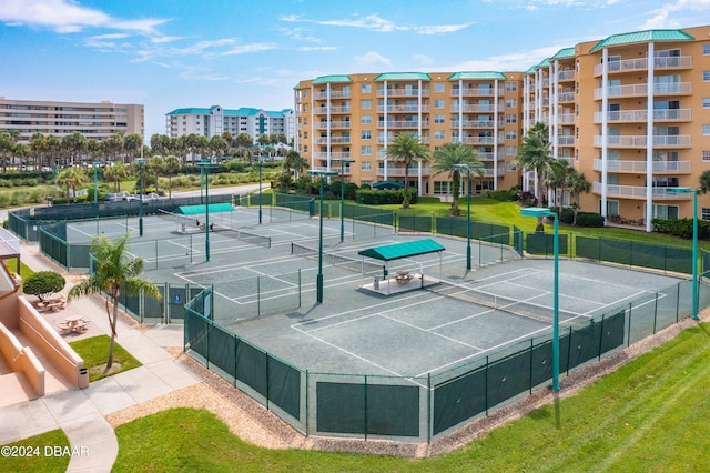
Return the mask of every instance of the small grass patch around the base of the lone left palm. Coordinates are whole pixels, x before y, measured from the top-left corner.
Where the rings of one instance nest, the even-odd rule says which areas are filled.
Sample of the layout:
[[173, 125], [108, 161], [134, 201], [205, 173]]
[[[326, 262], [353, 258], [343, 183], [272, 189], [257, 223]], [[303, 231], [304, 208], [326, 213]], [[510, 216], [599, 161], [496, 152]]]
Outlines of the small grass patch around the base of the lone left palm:
[[84, 366], [89, 370], [89, 382], [141, 366], [141, 362], [116, 342], [113, 345], [113, 365], [111, 371], [105, 373], [104, 368], [109, 359], [110, 341], [111, 338], [109, 335], [98, 335], [70, 343], [71, 348], [83, 359]]

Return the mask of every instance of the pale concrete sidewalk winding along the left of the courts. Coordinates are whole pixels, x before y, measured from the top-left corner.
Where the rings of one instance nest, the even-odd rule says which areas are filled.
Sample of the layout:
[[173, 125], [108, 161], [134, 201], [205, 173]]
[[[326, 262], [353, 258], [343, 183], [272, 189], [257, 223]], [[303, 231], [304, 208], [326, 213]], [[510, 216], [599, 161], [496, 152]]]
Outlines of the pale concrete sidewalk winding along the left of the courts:
[[[36, 243], [23, 243], [21, 258], [33, 271], [58, 271], [39, 254]], [[68, 281], [62, 292], [70, 285]], [[73, 301], [63, 315], [70, 313], [90, 321], [98, 329], [94, 333], [110, 333], [105, 308], [93, 299]], [[183, 325], [158, 325], [141, 333], [119, 320], [116, 332], [116, 342], [142, 366], [92, 382], [85, 390], [53, 392], [0, 409], [0, 444], [62, 429], [72, 447], [68, 471], [109, 472], [119, 443], [105, 415], [202, 381], [164, 350], [183, 345]]]

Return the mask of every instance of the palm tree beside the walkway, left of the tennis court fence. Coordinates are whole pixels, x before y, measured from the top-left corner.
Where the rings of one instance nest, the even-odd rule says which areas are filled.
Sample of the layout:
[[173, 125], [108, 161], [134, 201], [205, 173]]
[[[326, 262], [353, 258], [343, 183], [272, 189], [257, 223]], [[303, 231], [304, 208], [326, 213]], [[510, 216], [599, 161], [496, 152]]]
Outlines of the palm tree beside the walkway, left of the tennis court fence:
[[[129, 234], [112, 241], [105, 236], [97, 236], [91, 241], [91, 253], [94, 258], [94, 270], [89, 279], [74, 285], [67, 296], [67, 302], [89, 295], [105, 293], [106, 315], [111, 325], [111, 343], [105, 371], [113, 364], [113, 345], [115, 342], [115, 325], [119, 320], [119, 301], [121, 292], [139, 294], [143, 292], [160, 300], [161, 295], [155, 284], [142, 279], [143, 259], [130, 259], [128, 255]], [[109, 305], [112, 304], [112, 310]]]

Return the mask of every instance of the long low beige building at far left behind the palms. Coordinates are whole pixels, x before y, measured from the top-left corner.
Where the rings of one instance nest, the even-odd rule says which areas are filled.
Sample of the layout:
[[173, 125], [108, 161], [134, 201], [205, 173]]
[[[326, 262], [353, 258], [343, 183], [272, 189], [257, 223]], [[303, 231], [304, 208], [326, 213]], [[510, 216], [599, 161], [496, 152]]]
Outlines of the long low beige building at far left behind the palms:
[[53, 102], [0, 97], [0, 130], [19, 132], [19, 141], [23, 143], [37, 132], [63, 138], [78, 131], [95, 140], [105, 140], [115, 131], [143, 137], [144, 109], [109, 101]]

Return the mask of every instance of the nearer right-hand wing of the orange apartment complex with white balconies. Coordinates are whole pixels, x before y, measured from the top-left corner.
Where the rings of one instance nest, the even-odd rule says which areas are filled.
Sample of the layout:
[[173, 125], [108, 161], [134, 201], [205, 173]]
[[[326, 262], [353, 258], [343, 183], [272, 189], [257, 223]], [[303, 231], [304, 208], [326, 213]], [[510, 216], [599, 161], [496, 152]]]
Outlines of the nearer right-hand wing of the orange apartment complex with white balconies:
[[[580, 43], [524, 83], [525, 129], [548, 124], [554, 155], [592, 183], [584, 209], [647, 231], [656, 217], [692, 217], [692, 193], [676, 189], [698, 189], [710, 170], [710, 27]], [[710, 220], [703, 195], [698, 217]]]

